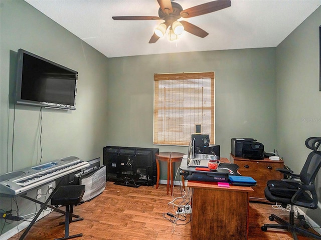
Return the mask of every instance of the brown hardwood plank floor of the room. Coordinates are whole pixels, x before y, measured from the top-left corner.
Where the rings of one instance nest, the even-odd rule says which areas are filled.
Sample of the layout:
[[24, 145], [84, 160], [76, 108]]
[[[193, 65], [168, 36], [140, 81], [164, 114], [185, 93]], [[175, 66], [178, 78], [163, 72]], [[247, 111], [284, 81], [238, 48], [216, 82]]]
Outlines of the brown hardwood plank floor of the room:
[[[177, 186], [174, 189], [175, 197], [181, 195], [179, 191]], [[74, 238], [79, 240], [190, 239], [190, 215], [185, 221], [180, 221], [180, 225], [173, 225], [163, 217], [163, 213], [175, 213], [175, 209], [168, 205], [170, 201], [172, 196], [166, 194], [166, 185], [163, 184], [160, 184], [158, 189], [155, 189], [155, 186], [133, 188], [115, 185], [108, 181], [102, 194], [91, 201], [75, 206], [74, 213], [84, 217], [84, 220], [71, 223], [69, 232], [70, 235], [82, 232], [82, 237]], [[261, 225], [271, 222], [268, 219], [270, 213], [288, 218], [287, 211], [272, 209], [270, 204], [250, 202], [248, 240], [292, 239], [291, 234], [283, 230], [261, 231]], [[52, 212], [36, 222], [25, 239], [47, 240], [63, 237], [65, 227], [58, 225], [63, 220], [64, 216], [61, 213]], [[9, 239], [19, 239], [19, 236], [16, 234]], [[298, 239], [310, 238], [298, 235]]]

